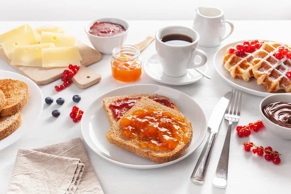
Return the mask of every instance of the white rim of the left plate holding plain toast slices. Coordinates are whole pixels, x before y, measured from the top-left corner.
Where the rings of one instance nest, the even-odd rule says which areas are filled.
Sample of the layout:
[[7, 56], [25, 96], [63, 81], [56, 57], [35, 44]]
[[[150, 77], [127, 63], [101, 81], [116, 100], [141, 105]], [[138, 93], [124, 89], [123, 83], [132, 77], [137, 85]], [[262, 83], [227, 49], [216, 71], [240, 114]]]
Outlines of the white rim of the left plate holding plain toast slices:
[[[19, 77], [22, 77], [22, 78], [24, 78], [24, 80], [26, 80], [26, 81], [28, 81], [28, 82], [30, 82], [32, 85], [34, 85], [35, 86], [35, 89], [36, 89], [36, 91], [38, 91], [38, 93], [40, 94], [40, 96], [41, 96], [41, 100], [42, 100], [42, 107], [41, 107], [41, 109], [39, 109], [39, 111], [38, 111], [38, 113], [37, 113], [37, 117], [35, 118], [35, 120], [34, 120], [34, 122], [32, 123], [32, 126], [34, 125], [34, 123], [36, 122], [36, 120], [40, 117], [40, 115], [41, 115], [41, 113], [42, 113], [42, 111], [43, 111], [43, 106], [44, 106], [44, 96], [43, 96], [43, 93], [42, 93], [42, 91], [41, 91], [41, 89], [38, 87], [38, 85], [36, 84], [36, 83], [34, 83], [30, 78], [28, 78], [28, 77], [25, 77], [25, 76], [23, 76], [23, 75], [21, 75], [20, 73], [16, 73], [16, 72], [13, 72], [13, 71], [7, 71], [7, 70], [0, 70], [0, 72], [4, 72], [4, 73], [7, 73], [7, 74], [14, 74], [14, 75], [16, 75], [16, 76], [19, 76]], [[8, 78], [4, 78], [4, 79], [8, 79]], [[25, 81], [23, 81], [23, 82], [25, 82]], [[29, 88], [30, 89], [30, 88]], [[21, 112], [21, 111], [20, 111]], [[21, 125], [20, 125], [20, 127], [22, 126], [22, 123], [21, 123]], [[19, 127], [19, 128], [20, 128]], [[17, 138], [12, 138], [12, 140], [8, 143], [8, 144], [6, 144], [6, 145], [4, 145], [4, 146], [0, 146], [0, 150], [3, 150], [3, 149], [5, 149], [6, 147], [8, 147], [8, 146], [11, 146], [12, 144], [14, 144], [14, 143], [16, 143], [20, 138], [22, 138], [28, 131], [29, 131], [29, 129], [32, 129], [32, 128], [29, 128], [29, 127], [26, 127], [27, 129], [25, 129], [24, 130], [24, 132], [23, 132], [23, 134], [22, 135], [20, 135], [19, 137], [17, 137]], [[16, 129], [16, 131], [17, 131], [17, 129]], [[13, 135], [13, 134], [15, 134], [15, 131], [12, 133], [12, 134], [10, 134], [9, 136], [11, 137], [11, 135]], [[7, 137], [9, 137], [9, 136], [7, 136]], [[5, 139], [5, 138], [4, 138]]]

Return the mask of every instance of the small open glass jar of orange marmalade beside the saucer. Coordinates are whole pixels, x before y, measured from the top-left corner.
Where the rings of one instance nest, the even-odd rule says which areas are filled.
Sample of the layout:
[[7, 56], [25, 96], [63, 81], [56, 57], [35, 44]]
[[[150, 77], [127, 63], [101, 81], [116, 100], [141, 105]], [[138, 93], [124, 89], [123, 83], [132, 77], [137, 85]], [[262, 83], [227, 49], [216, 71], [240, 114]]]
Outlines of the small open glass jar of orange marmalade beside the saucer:
[[112, 76], [118, 81], [138, 80], [142, 75], [142, 60], [138, 48], [121, 45], [113, 49], [111, 59]]

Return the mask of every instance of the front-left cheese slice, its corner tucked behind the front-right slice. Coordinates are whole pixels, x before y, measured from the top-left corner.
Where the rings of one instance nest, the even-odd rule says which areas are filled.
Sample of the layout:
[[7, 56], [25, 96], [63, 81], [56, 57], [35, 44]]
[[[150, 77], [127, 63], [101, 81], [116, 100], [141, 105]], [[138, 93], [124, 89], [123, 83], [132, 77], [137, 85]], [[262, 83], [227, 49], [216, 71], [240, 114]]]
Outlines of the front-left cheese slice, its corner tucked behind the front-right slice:
[[13, 52], [11, 65], [42, 67], [42, 49], [54, 47], [53, 43], [17, 46]]

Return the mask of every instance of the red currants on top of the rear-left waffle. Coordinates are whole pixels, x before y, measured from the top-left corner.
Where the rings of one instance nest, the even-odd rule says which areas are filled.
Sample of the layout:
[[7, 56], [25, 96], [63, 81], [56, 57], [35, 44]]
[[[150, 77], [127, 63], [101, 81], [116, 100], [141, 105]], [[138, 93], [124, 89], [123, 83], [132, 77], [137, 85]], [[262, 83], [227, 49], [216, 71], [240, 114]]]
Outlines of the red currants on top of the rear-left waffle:
[[235, 52], [238, 57], [242, 57], [246, 52], [253, 53], [256, 49], [260, 49], [263, 43], [263, 41], [259, 42], [259, 40], [254, 40], [251, 42], [244, 41], [243, 44], [238, 44], [236, 46], [236, 52], [235, 49], [229, 49], [228, 51], [230, 54]]

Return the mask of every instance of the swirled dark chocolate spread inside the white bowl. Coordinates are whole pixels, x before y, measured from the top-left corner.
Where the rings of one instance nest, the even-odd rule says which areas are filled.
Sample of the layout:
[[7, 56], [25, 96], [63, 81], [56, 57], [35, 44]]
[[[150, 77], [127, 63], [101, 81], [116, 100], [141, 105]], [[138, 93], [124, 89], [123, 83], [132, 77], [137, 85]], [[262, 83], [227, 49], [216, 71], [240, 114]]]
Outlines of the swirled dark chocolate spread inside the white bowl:
[[291, 103], [272, 102], [264, 106], [262, 111], [273, 123], [291, 129]]

